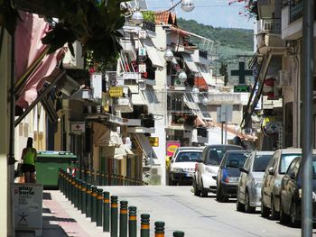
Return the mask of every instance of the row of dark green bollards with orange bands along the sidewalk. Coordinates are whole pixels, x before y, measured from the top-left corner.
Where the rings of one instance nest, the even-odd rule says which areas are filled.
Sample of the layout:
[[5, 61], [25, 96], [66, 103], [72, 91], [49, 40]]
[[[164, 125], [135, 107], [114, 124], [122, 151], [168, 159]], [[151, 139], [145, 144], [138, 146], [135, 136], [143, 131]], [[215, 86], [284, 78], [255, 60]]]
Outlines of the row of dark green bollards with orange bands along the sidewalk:
[[[92, 173], [92, 172], [91, 172]], [[97, 172], [98, 174], [98, 172]], [[107, 183], [107, 174], [99, 173], [96, 178], [99, 184]], [[97, 175], [97, 176], [98, 176]], [[82, 178], [86, 176], [81, 174]], [[133, 181], [116, 176], [117, 185], [127, 185]], [[81, 214], [95, 222], [97, 226], [103, 227], [103, 232], [110, 232], [111, 237], [137, 237], [137, 208], [128, 206], [128, 202], [122, 200], [119, 202], [118, 197], [110, 196], [109, 192], [103, 189], [91, 186], [89, 182], [75, 178], [66, 170], [60, 169], [58, 184], [60, 192], [70, 200], [71, 204], [76, 207]], [[119, 214], [119, 215], [118, 215]], [[141, 214], [141, 237], [150, 236], [150, 215]], [[154, 236], [164, 237], [164, 223], [154, 223]], [[183, 237], [184, 232], [173, 232], [173, 237]]]

